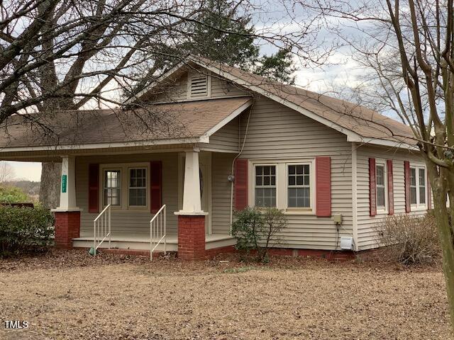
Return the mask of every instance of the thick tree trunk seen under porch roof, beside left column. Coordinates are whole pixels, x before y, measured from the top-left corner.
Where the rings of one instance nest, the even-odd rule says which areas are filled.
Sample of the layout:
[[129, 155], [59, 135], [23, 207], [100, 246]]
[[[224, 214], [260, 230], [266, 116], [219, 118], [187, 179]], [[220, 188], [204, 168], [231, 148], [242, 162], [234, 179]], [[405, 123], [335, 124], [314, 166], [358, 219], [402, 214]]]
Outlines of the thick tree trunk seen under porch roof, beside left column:
[[45, 208], [54, 209], [60, 205], [61, 163], [43, 163], [41, 171], [40, 203]]

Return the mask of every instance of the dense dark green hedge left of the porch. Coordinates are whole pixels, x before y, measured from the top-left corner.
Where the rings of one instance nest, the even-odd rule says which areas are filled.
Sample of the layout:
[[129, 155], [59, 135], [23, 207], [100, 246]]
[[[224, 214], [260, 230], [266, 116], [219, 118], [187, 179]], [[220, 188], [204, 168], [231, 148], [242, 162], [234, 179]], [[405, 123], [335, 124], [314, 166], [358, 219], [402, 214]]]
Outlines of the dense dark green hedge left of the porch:
[[0, 206], [0, 256], [46, 250], [53, 222], [52, 213], [45, 208]]

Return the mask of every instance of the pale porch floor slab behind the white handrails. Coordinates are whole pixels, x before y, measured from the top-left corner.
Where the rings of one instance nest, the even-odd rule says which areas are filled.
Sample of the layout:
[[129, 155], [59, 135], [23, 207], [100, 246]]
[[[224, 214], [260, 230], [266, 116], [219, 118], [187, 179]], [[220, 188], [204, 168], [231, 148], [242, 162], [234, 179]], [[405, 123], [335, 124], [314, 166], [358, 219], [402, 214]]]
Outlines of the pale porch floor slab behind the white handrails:
[[[72, 239], [72, 246], [89, 248], [93, 246], [93, 239], [93, 234], [81, 232], [81, 237]], [[214, 249], [235, 244], [236, 238], [231, 237], [231, 235], [205, 234], [205, 249]], [[100, 248], [109, 248], [109, 239], [106, 239]], [[150, 234], [140, 232], [112, 232], [111, 248], [150, 250]], [[164, 244], [157, 246], [157, 250], [164, 250]], [[166, 250], [178, 251], [178, 234], [167, 234]]]

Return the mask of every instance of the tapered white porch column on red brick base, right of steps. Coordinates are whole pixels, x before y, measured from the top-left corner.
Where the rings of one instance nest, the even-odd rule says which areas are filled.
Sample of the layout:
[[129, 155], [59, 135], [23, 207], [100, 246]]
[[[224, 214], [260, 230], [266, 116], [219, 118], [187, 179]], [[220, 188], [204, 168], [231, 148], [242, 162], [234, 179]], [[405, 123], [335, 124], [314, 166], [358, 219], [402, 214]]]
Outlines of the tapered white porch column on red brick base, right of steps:
[[205, 217], [201, 210], [199, 151], [186, 152], [184, 164], [183, 208], [178, 212], [178, 257], [184, 260], [205, 258]]

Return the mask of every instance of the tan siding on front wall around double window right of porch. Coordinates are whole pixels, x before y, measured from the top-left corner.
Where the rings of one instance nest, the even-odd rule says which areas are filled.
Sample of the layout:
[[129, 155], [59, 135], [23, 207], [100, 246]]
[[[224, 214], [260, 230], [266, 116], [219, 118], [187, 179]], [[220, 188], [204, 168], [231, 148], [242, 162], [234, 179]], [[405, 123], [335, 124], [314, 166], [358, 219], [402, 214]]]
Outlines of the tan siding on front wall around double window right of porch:
[[[240, 117], [242, 138], [248, 113]], [[340, 236], [353, 236], [351, 146], [345, 135], [270, 99], [255, 101], [248, 135], [240, 156], [245, 159], [298, 159], [331, 157], [332, 213], [343, 215]], [[253, 181], [249, 179], [249, 185]], [[331, 217], [287, 215], [282, 247], [335, 249], [338, 234]]]

